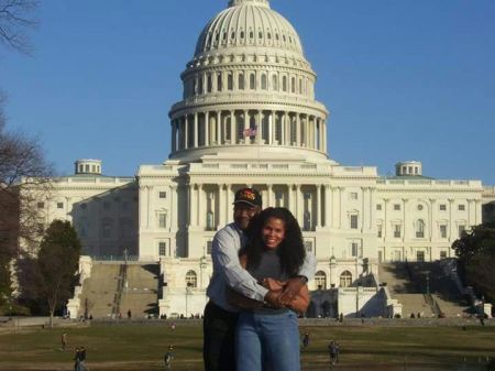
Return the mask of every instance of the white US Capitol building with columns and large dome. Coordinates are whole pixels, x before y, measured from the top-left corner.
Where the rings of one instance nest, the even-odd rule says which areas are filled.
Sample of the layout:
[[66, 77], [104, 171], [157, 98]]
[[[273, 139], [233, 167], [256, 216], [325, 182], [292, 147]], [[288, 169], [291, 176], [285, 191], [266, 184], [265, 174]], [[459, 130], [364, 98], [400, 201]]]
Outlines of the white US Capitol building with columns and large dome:
[[415, 161], [383, 177], [376, 167], [332, 160], [317, 75], [296, 30], [268, 0], [229, 1], [199, 35], [180, 78], [168, 160], [131, 177], [103, 176], [101, 161], [79, 160], [75, 175], [56, 178], [51, 198], [37, 203], [45, 225], [74, 222], [85, 255], [160, 262], [161, 314], [184, 313], [185, 290], [188, 310], [202, 313], [211, 241], [232, 220], [241, 187], [256, 187], [264, 206], [297, 217], [318, 260], [310, 288], [340, 292], [339, 313], [355, 303], [353, 290], [361, 290], [360, 306], [373, 301], [380, 262], [452, 257], [452, 242], [481, 223], [482, 205], [495, 199], [480, 181], [426, 177]]

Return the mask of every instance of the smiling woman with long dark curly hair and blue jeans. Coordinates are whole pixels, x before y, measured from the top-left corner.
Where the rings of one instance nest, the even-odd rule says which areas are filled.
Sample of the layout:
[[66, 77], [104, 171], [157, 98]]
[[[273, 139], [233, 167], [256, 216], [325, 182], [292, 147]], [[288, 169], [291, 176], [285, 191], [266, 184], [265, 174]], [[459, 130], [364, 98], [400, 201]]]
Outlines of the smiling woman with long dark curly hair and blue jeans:
[[[306, 257], [299, 225], [289, 210], [267, 208], [256, 219], [251, 243], [241, 252], [258, 282], [297, 275]], [[238, 371], [299, 371], [297, 315], [263, 306], [241, 312], [235, 335]]]

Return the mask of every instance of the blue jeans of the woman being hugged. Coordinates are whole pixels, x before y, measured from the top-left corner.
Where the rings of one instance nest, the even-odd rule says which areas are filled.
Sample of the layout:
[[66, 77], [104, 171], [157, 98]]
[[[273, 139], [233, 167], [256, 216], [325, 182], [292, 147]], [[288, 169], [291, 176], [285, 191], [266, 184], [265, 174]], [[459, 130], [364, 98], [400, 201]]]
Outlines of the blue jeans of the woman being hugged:
[[235, 352], [238, 371], [300, 371], [297, 315], [241, 313]]

